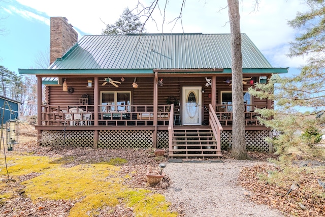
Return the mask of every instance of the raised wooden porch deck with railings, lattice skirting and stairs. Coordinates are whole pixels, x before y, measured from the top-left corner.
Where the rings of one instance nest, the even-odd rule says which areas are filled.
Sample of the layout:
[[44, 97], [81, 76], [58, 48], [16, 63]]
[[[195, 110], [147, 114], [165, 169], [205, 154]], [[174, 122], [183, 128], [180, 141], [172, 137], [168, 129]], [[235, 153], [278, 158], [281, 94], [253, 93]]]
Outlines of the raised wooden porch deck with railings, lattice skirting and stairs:
[[[221, 148], [232, 143], [233, 119], [231, 111], [215, 111], [218, 106], [229, 107], [210, 104], [208, 125], [174, 126], [173, 104], [158, 105], [156, 114], [153, 105], [125, 105], [125, 110], [100, 105], [97, 114], [92, 105], [46, 105], [36, 129], [47, 145], [57, 140], [93, 148], [168, 148], [171, 158], [219, 158]], [[70, 108], [75, 112], [67, 112]], [[264, 142], [269, 129], [259, 125], [256, 112], [245, 112], [245, 124], [247, 144], [269, 150]]]

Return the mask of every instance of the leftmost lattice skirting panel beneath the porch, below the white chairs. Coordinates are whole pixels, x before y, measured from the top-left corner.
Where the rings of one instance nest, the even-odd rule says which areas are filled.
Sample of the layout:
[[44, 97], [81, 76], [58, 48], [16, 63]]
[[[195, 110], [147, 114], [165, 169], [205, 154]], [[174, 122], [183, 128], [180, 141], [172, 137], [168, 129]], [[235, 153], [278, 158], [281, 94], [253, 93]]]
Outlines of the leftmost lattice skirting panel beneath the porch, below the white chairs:
[[93, 131], [42, 131], [43, 146], [93, 147]]

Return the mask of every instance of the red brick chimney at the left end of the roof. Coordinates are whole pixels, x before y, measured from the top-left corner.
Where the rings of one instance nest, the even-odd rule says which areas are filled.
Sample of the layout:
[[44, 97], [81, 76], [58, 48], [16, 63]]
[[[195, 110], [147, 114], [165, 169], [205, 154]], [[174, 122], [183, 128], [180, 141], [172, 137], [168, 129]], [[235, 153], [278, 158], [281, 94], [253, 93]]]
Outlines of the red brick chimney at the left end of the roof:
[[78, 34], [66, 17], [51, 17], [50, 65], [62, 57], [78, 41]]

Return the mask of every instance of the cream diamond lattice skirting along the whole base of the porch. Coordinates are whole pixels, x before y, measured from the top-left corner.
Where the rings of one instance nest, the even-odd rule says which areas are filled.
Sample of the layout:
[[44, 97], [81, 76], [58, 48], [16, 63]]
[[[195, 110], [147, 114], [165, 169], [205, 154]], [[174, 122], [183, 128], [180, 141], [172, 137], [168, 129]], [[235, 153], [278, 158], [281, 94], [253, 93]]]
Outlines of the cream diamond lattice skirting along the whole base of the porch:
[[[272, 147], [265, 141], [270, 137], [270, 130], [246, 131], [245, 139], [248, 150], [269, 152]], [[93, 147], [93, 131], [42, 131], [43, 146]], [[232, 145], [232, 131], [221, 131], [221, 149], [227, 150]], [[99, 148], [152, 148], [152, 130], [111, 130], [99, 132]], [[168, 148], [168, 131], [158, 131], [157, 148]]]

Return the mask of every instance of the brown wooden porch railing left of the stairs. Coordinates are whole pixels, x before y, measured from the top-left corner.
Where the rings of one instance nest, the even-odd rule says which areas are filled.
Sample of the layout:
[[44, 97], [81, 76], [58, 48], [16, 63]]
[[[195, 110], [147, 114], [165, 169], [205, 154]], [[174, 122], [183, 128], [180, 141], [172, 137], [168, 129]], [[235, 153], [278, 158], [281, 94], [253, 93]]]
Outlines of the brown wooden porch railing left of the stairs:
[[[43, 105], [43, 126], [94, 125], [98, 115], [99, 126], [153, 126], [153, 105], [99, 105], [94, 114], [93, 105]], [[157, 125], [168, 126], [171, 105], [158, 105]], [[73, 112], [72, 109], [73, 108]]]

